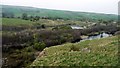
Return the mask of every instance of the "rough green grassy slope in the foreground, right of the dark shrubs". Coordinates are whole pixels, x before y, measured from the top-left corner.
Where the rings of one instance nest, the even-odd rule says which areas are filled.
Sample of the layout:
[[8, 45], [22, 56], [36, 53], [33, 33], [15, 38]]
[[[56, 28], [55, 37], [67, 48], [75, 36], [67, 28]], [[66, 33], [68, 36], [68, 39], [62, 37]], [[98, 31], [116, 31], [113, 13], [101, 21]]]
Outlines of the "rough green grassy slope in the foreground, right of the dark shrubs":
[[118, 63], [117, 36], [66, 43], [44, 49], [32, 66], [116, 66]]

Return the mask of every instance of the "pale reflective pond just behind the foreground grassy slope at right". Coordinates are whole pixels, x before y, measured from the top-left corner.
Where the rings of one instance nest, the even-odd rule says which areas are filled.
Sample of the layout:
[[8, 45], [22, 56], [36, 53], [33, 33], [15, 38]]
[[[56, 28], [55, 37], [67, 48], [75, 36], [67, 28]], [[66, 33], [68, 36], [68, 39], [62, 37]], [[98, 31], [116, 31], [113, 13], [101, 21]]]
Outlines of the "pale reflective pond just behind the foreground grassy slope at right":
[[87, 38], [83, 38], [81, 41], [106, 38], [106, 37], [110, 37], [110, 36], [112, 36], [112, 34], [107, 34], [104, 32], [104, 33], [98, 34], [96, 36], [88, 36]]

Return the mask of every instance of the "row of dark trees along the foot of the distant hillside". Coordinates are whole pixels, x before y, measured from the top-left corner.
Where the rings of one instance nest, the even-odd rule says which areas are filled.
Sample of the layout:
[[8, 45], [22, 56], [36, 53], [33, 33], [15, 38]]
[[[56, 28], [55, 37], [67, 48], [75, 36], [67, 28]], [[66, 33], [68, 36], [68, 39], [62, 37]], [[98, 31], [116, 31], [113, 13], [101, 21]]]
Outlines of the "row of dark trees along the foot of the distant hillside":
[[[33, 15], [28, 15], [27, 13], [23, 13], [21, 16], [15, 16], [14, 13], [12, 12], [2, 12], [2, 17], [3, 18], [19, 18], [23, 20], [30, 20], [30, 21], [39, 21], [39, 19], [50, 19], [50, 20], [73, 20], [71, 18], [66, 18], [66, 17], [51, 17], [51, 16], [33, 16]], [[79, 21], [86, 21], [86, 22], [93, 22], [96, 21], [98, 23], [104, 23], [108, 24], [109, 22], [114, 22], [114, 20], [96, 20], [96, 19], [88, 19], [88, 18], [77, 18]]]

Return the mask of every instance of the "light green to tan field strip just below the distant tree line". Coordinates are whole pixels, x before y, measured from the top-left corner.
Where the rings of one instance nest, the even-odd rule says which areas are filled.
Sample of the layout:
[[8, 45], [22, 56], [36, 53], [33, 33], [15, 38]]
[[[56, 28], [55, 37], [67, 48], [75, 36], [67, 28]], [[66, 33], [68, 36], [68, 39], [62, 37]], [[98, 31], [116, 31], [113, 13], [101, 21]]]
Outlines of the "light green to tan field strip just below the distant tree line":
[[45, 24], [47, 26], [55, 26], [55, 25], [62, 25], [62, 24], [77, 24], [80, 26], [86, 26], [90, 25], [91, 23], [85, 23], [81, 21], [72, 21], [72, 20], [67, 20], [67, 21], [62, 21], [62, 20], [45, 20], [45, 19], [40, 19], [39, 21], [32, 22], [29, 20], [22, 20], [22, 19], [15, 19], [15, 18], [0, 18], [2, 19], [2, 25], [5, 26], [26, 26], [26, 25], [39, 25], [39, 24]]

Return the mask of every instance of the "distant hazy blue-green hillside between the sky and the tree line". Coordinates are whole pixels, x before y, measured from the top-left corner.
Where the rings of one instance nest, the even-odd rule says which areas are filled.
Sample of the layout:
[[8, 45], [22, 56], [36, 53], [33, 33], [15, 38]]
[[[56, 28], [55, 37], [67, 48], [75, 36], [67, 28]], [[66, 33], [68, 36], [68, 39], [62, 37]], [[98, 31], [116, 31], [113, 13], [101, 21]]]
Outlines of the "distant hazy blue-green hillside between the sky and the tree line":
[[102, 20], [117, 20], [117, 15], [112, 14], [101, 14], [101, 13], [90, 13], [90, 12], [73, 12], [64, 10], [52, 10], [52, 9], [41, 9], [34, 7], [25, 6], [10, 6], [2, 5], [3, 13], [12, 13], [15, 17], [20, 17], [23, 13], [27, 13], [29, 16], [40, 16], [40, 17], [59, 17], [63, 19], [71, 20], [87, 20], [87, 21], [98, 21]]

